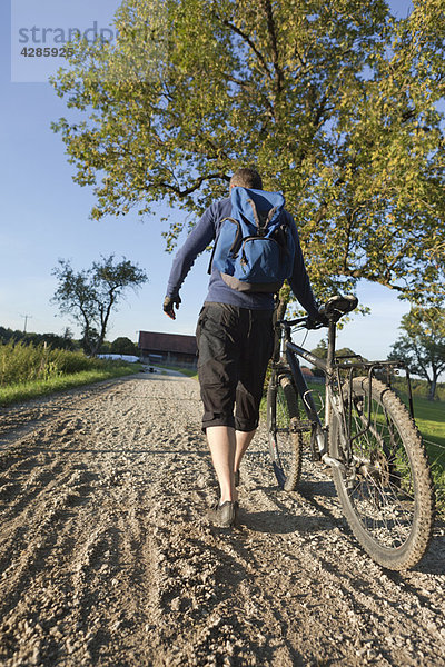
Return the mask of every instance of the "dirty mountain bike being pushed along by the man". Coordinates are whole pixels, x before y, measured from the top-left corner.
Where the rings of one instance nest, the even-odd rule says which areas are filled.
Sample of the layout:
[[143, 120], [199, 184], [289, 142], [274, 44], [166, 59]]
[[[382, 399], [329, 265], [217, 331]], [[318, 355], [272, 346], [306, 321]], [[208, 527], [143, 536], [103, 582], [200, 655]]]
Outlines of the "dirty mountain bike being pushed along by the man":
[[[332, 297], [322, 311], [327, 358], [291, 339], [291, 330], [319, 328], [309, 318], [279, 319], [267, 391], [269, 451], [278, 485], [294, 490], [301, 474], [304, 439], [314, 461], [330, 466], [344, 516], [363, 549], [379, 565], [402, 570], [426, 552], [434, 524], [434, 488], [414, 421], [409, 374], [398, 361], [337, 357], [338, 320], [357, 307], [352, 296]], [[316, 405], [299, 365], [324, 375], [324, 405]], [[408, 407], [388, 384], [404, 369]]]

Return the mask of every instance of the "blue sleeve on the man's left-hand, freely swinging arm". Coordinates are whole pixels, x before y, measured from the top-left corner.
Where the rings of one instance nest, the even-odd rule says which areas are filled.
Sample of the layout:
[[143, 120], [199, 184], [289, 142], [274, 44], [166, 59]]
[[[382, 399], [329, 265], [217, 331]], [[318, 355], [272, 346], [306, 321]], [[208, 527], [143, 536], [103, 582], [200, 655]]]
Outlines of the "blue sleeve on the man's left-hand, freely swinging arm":
[[194, 266], [195, 259], [215, 239], [215, 211], [211, 205], [204, 213], [197, 226], [188, 235], [186, 242], [175, 256], [167, 285], [167, 297], [179, 295], [182, 282]]

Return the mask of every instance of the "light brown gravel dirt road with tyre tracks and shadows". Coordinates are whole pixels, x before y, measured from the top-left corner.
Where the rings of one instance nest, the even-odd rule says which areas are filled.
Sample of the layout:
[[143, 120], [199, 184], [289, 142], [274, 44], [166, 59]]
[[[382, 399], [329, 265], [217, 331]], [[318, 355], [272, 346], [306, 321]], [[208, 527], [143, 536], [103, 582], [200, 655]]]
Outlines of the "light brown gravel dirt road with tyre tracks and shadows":
[[328, 470], [279, 491], [259, 432], [211, 527], [198, 385], [141, 374], [0, 411], [0, 664], [445, 665], [445, 531], [356, 546]]

